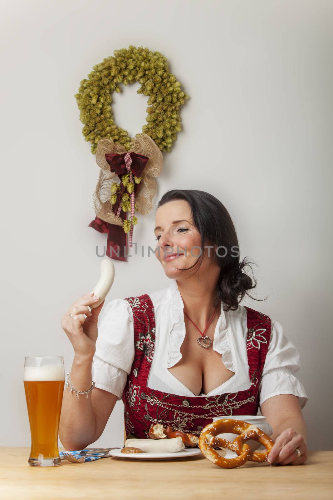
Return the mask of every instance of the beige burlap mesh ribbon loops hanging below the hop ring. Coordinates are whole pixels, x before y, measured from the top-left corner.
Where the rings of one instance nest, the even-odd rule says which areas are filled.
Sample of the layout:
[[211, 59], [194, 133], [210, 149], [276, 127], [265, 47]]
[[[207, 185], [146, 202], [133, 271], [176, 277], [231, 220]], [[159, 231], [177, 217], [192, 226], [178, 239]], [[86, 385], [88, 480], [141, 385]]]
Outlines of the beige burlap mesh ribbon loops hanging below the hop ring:
[[[149, 158], [147, 165], [141, 175], [138, 192], [135, 196], [135, 203], [138, 211], [144, 215], [149, 213], [153, 207], [153, 197], [156, 193], [156, 179], [163, 168], [163, 155], [153, 139], [145, 133], [137, 133], [131, 140], [129, 152], [134, 151], [144, 154]], [[127, 149], [114, 142], [112, 139], [101, 139], [97, 145], [96, 162], [100, 166], [98, 182], [93, 194], [94, 210], [100, 219], [110, 224], [122, 225], [123, 220], [117, 217], [110, 202], [110, 189], [112, 182], [118, 180], [118, 176], [110, 171], [110, 165], [105, 159], [106, 153], [126, 153]]]

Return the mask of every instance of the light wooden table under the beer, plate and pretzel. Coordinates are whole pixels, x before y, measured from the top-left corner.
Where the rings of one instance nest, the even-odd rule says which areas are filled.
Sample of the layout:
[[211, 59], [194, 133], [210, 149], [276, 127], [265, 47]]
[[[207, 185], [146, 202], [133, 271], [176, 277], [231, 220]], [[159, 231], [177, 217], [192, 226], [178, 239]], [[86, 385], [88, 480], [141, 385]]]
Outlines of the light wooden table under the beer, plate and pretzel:
[[81, 500], [333, 498], [333, 451], [313, 451], [306, 464], [245, 463], [222, 469], [202, 455], [144, 461], [101, 458], [58, 467], [28, 465], [30, 448], [0, 447], [0, 498]]

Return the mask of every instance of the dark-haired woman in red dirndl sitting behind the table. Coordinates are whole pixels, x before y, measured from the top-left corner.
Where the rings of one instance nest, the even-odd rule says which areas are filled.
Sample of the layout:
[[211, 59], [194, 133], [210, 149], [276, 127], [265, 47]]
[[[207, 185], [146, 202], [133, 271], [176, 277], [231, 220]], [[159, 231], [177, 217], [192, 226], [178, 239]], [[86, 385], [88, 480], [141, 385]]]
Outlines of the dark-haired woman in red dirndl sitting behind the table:
[[61, 442], [95, 441], [120, 398], [127, 435], [141, 438], [152, 423], [198, 435], [212, 416], [260, 407], [274, 429], [269, 461], [305, 462], [299, 354], [279, 322], [239, 304], [256, 283], [243, 272], [228, 211], [209, 193], [173, 189], [158, 204], [155, 236], [168, 288], [111, 300], [98, 333], [103, 302], [90, 310], [92, 292], [62, 318], [74, 347], [70, 382], [83, 394], [64, 393]]

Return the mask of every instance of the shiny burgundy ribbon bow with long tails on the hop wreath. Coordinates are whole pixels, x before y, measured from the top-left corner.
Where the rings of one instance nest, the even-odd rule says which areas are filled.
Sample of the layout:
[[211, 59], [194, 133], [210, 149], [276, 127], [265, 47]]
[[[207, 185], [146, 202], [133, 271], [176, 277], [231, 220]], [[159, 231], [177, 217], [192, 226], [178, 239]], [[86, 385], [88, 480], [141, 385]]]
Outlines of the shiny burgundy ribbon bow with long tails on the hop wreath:
[[[135, 152], [126, 153], [106, 153], [105, 159], [110, 165], [111, 172], [115, 172], [120, 178], [120, 192], [118, 193], [117, 201], [114, 204], [114, 213], [121, 217], [122, 220], [126, 219], [126, 212], [121, 209], [121, 195], [125, 191], [125, 186], [122, 183], [121, 175], [129, 172], [129, 181], [132, 182], [133, 175], [136, 177], [141, 177], [142, 172], [147, 164], [148, 157], [143, 154], [138, 154]], [[134, 183], [134, 189], [131, 192], [131, 219], [134, 216], [134, 195], [140, 187], [140, 183]], [[126, 260], [126, 233], [123, 227], [116, 224], [109, 224], [99, 217], [95, 217], [89, 224], [99, 232], [107, 232], [107, 245], [106, 245], [106, 255], [108, 257], [114, 258], [116, 260]], [[131, 226], [129, 233], [129, 245], [132, 247], [132, 236], [133, 236], [133, 225]], [[110, 254], [111, 247], [114, 248], [115, 252]]]

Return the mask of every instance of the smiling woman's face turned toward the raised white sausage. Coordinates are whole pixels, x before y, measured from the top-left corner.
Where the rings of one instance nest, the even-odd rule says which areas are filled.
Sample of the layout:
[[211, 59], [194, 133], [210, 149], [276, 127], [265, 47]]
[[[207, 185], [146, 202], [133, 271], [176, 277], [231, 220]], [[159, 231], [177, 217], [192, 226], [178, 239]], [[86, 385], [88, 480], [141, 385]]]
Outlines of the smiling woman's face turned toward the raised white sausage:
[[[168, 201], [157, 209], [155, 217], [155, 236], [157, 239], [155, 255], [161, 262], [165, 274], [172, 278], [184, 272], [195, 272], [196, 267], [182, 271], [193, 265], [200, 257], [201, 237], [193, 224], [191, 208], [187, 201]], [[205, 248], [202, 251], [207, 254]], [[213, 249], [210, 250], [213, 256]], [[209, 259], [212, 260], [212, 259]], [[201, 264], [205, 271], [206, 255]]]

